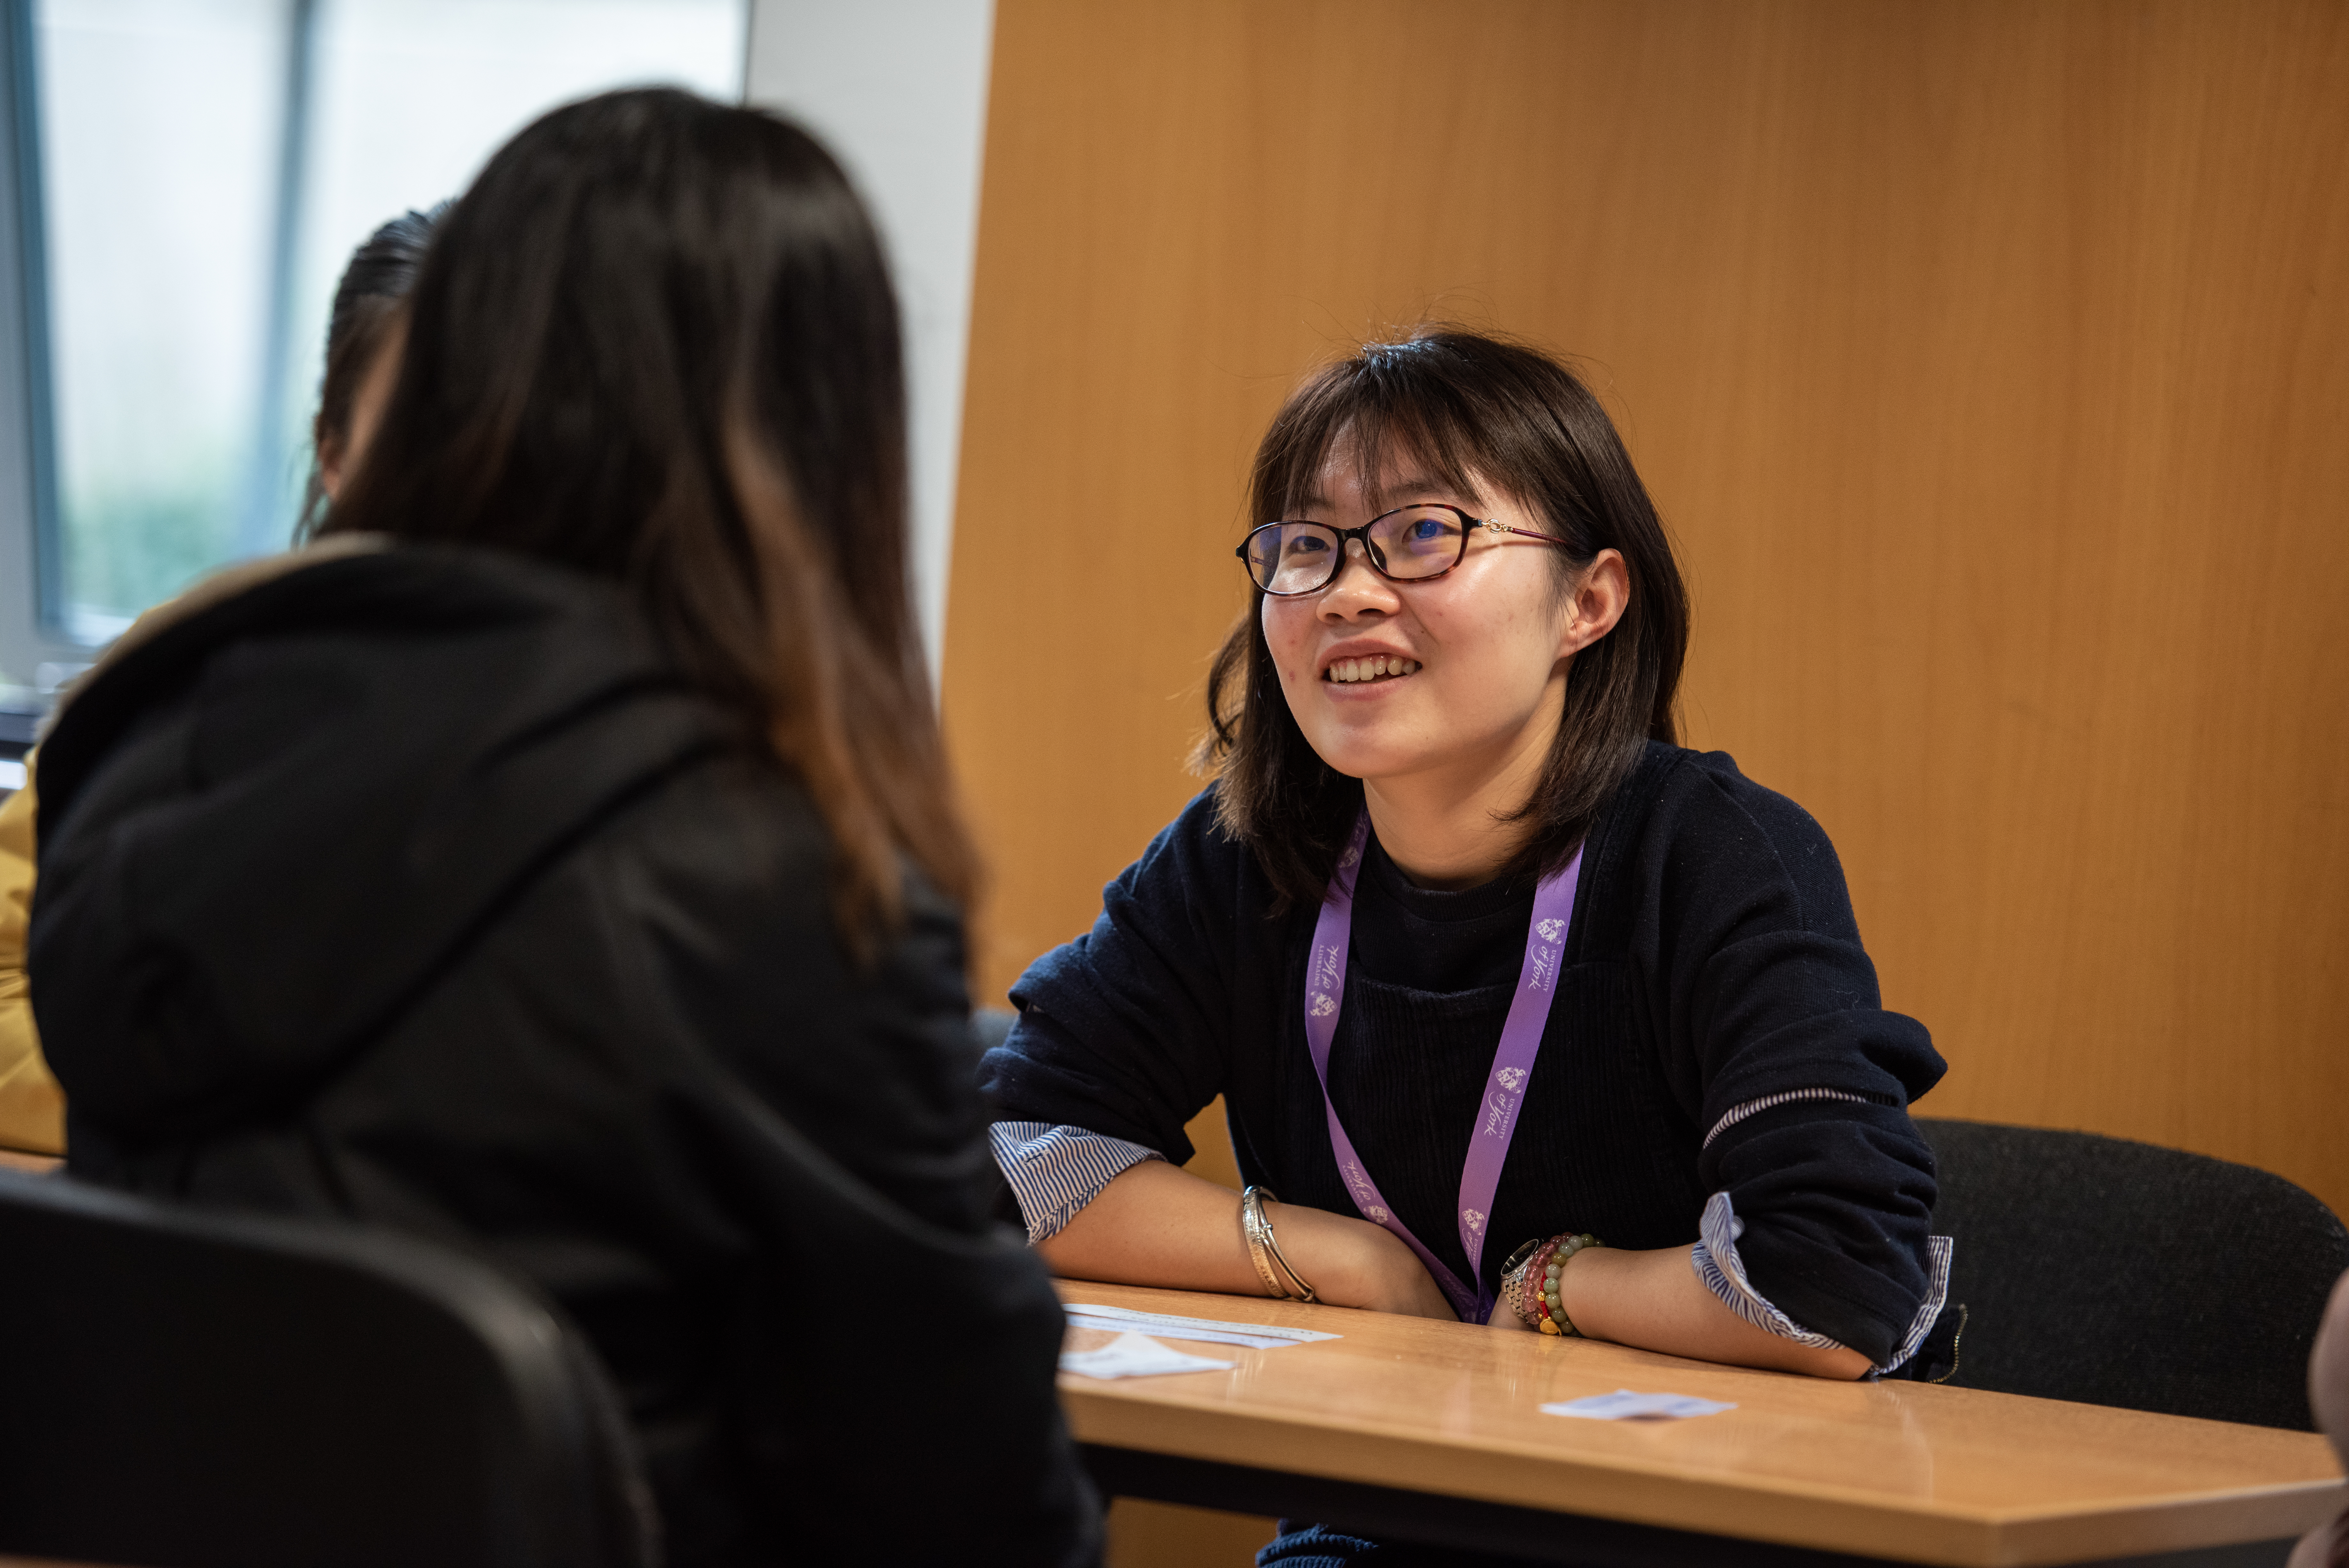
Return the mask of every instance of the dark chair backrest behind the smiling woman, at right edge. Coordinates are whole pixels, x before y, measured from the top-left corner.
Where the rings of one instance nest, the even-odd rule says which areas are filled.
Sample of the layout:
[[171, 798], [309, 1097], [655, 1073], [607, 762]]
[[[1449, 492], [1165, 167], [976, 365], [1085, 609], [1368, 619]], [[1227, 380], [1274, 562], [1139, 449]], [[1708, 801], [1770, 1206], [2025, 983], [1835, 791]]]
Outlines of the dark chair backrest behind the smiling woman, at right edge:
[[1952, 1382], [2314, 1429], [2349, 1234], [2281, 1175], [2149, 1143], [1919, 1119], [1966, 1305]]

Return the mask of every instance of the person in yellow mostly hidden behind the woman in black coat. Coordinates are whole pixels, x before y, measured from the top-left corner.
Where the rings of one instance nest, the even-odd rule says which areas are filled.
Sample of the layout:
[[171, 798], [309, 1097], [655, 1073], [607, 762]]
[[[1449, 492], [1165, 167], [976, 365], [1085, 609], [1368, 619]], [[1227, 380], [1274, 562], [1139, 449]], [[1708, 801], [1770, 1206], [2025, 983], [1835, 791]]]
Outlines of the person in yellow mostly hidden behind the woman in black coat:
[[[350, 254], [327, 317], [327, 374], [310, 421], [310, 489], [303, 527], [324, 517], [359, 451], [383, 416], [399, 355], [392, 327], [399, 301], [416, 287], [425, 244], [446, 202], [432, 212], [404, 212]], [[164, 614], [174, 614], [164, 609]], [[33, 1154], [66, 1152], [66, 1095], [40, 1056], [33, 1004], [26, 997], [23, 940], [33, 907], [33, 818], [38, 813], [35, 759], [26, 757], [26, 783], [0, 799], [0, 1150]]]

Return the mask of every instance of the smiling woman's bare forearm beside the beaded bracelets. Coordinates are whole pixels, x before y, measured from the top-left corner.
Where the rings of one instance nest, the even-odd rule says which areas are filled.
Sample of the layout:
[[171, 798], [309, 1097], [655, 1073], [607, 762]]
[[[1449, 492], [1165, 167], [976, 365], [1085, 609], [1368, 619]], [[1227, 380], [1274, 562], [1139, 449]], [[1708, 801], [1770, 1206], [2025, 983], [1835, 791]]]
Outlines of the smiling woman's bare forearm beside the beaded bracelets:
[[1849, 1380], [1870, 1366], [1856, 1349], [1813, 1349], [1755, 1328], [1705, 1288], [1687, 1246], [1651, 1253], [1586, 1246], [1557, 1284], [1567, 1319], [1593, 1340], [1811, 1378]]

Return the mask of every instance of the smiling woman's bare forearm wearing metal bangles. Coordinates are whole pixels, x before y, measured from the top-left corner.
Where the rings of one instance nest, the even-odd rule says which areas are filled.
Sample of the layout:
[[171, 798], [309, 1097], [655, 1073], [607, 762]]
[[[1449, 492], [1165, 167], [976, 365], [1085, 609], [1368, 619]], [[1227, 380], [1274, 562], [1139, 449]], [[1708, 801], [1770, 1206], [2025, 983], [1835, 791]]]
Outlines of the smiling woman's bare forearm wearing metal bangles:
[[[1402, 1241], [1367, 1220], [1266, 1204], [1280, 1255], [1337, 1307], [1452, 1316]], [[1240, 1194], [1146, 1159], [1109, 1182], [1036, 1253], [1064, 1279], [1264, 1295], [1240, 1234]]]

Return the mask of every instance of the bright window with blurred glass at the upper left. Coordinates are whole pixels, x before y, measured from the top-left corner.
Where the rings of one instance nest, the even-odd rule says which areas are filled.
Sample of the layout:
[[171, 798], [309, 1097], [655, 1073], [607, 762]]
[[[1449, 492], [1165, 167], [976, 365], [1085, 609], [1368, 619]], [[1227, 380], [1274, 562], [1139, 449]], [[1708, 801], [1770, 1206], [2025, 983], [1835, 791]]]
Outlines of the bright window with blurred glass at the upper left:
[[350, 249], [554, 103], [639, 82], [738, 99], [745, 2], [7, 7], [0, 240], [26, 303], [0, 421], [19, 393], [26, 482], [0, 524], [0, 686], [54, 684], [197, 574], [282, 548]]

